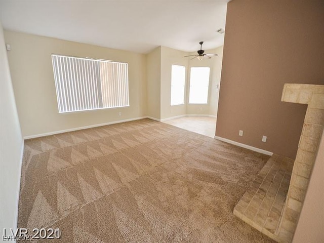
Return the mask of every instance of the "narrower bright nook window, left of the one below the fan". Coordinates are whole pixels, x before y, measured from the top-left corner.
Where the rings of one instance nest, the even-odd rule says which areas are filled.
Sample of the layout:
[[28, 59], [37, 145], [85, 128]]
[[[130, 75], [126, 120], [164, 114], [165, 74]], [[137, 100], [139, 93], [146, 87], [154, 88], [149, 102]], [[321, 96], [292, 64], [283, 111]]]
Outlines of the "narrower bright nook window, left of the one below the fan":
[[171, 105], [184, 104], [184, 85], [186, 68], [172, 65], [171, 67]]

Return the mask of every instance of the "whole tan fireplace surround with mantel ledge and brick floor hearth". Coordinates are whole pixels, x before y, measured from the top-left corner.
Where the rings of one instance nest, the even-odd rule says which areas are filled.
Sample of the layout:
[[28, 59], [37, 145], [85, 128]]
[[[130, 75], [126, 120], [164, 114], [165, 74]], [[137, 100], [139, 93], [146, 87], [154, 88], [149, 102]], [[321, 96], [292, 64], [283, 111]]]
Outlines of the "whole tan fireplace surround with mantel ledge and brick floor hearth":
[[324, 85], [285, 84], [281, 101], [308, 105], [295, 161], [274, 154], [233, 213], [270, 238], [289, 243], [295, 233], [324, 127]]

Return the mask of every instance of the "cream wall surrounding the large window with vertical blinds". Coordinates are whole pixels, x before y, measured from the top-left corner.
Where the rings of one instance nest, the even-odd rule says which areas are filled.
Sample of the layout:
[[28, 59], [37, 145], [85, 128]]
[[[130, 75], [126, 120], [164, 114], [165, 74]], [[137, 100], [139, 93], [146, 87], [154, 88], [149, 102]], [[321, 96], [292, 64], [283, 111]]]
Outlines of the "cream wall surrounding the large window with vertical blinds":
[[[5, 39], [11, 45], [8, 59], [23, 136], [146, 116], [145, 55], [12, 31], [5, 31]], [[53, 53], [127, 62], [130, 106], [59, 114]]]

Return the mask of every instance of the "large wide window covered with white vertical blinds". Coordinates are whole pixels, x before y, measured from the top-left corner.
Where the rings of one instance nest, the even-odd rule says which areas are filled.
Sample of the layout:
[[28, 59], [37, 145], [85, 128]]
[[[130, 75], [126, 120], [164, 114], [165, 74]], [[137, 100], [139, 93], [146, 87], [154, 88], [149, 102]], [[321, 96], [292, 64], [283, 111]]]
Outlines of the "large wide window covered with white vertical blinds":
[[52, 55], [59, 112], [129, 106], [128, 64]]

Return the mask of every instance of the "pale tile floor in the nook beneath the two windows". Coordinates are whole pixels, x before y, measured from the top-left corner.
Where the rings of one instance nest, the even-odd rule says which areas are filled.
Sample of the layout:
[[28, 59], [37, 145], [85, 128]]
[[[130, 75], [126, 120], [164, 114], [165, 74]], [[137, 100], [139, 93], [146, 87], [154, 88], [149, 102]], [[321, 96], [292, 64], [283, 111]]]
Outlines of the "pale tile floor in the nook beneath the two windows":
[[172, 120], [164, 121], [164, 123], [182, 128], [194, 133], [199, 133], [211, 138], [215, 136], [216, 118], [208, 116], [185, 116]]

